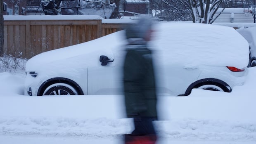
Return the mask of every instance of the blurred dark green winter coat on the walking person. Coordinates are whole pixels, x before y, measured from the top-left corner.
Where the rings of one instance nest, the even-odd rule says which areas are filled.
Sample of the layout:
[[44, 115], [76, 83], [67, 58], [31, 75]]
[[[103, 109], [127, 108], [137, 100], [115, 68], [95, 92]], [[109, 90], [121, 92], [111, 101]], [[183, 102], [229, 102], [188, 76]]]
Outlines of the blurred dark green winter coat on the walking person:
[[146, 45], [128, 45], [123, 66], [123, 86], [128, 118], [157, 118], [152, 51]]

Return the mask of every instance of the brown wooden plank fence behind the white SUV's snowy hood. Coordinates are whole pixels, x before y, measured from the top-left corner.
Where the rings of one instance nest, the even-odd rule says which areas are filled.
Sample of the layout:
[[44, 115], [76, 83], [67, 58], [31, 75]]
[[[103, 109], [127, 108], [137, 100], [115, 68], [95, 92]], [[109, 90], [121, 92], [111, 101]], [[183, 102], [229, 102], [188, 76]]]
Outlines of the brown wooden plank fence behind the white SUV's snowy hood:
[[22, 58], [87, 42], [121, 30], [123, 24], [97, 20], [4, 21], [4, 52]]

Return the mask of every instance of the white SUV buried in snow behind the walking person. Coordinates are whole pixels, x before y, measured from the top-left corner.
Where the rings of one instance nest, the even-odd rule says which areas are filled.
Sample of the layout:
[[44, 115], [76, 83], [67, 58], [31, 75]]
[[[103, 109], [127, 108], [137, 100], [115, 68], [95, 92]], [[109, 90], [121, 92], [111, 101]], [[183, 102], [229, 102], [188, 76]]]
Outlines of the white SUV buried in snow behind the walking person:
[[[26, 63], [25, 94], [122, 94], [124, 31], [38, 54]], [[231, 92], [242, 85], [247, 41], [231, 27], [157, 23], [154, 65], [159, 95], [189, 95], [193, 88]]]

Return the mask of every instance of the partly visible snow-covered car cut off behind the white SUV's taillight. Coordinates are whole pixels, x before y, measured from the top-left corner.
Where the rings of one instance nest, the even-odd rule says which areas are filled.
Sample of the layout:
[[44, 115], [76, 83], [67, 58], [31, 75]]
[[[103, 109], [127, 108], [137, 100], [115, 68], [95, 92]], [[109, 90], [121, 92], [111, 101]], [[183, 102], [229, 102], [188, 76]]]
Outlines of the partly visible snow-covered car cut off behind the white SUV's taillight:
[[239, 28], [237, 31], [249, 43], [249, 67], [256, 66], [256, 26], [248, 28]]

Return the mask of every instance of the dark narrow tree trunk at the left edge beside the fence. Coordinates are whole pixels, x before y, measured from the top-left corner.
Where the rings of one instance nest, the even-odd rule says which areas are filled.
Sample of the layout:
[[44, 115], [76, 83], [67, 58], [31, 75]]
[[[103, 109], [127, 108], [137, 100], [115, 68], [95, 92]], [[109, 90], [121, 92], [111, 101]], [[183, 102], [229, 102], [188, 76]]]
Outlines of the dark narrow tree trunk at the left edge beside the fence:
[[3, 1], [0, 2], [0, 56], [4, 54], [4, 17]]

